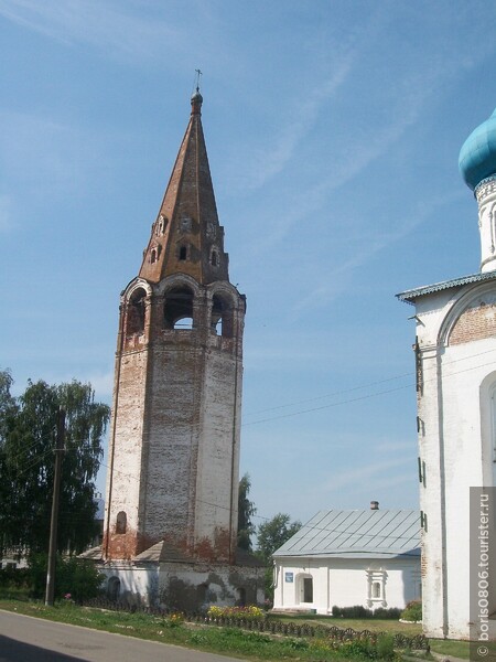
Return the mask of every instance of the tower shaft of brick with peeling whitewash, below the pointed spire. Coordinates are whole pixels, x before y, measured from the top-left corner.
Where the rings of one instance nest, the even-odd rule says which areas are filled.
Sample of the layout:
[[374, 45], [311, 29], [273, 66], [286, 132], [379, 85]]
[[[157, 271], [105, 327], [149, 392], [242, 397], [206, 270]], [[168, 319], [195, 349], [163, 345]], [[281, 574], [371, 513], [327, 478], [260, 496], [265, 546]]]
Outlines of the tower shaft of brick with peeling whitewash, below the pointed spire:
[[[234, 338], [211, 329], [211, 292], [196, 305], [197, 328], [191, 330], [162, 329], [162, 309], [152, 298], [138, 342], [126, 334], [123, 297], [107, 558], [132, 558], [160, 540], [193, 555], [234, 558], [245, 307], [236, 296]], [[126, 534], [116, 533], [121, 511]]]

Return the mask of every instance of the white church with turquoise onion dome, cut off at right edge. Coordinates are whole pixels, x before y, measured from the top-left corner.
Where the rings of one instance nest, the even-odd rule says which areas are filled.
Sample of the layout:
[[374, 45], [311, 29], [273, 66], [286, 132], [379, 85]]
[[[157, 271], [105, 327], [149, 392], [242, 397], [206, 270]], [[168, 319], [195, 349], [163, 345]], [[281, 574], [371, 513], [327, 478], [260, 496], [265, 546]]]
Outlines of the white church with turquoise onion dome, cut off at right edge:
[[417, 320], [424, 632], [481, 640], [496, 639], [496, 111], [460, 169], [478, 204], [481, 273], [398, 297]]

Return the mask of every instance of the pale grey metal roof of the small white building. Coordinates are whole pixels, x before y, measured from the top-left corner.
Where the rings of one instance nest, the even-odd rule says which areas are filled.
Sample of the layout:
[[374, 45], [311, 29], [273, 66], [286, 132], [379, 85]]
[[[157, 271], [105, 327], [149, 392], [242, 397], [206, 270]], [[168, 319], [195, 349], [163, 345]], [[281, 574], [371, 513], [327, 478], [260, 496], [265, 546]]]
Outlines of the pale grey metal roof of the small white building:
[[420, 513], [412, 510], [320, 511], [273, 554], [341, 558], [419, 555]]

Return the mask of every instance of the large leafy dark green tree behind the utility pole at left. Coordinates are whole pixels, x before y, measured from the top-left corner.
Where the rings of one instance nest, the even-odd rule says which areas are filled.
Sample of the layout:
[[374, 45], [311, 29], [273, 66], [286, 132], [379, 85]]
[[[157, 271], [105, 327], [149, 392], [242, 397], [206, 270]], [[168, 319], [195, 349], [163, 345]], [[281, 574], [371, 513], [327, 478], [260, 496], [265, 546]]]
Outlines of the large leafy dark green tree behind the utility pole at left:
[[[46, 552], [52, 509], [57, 413], [66, 410], [57, 548], [80, 552], [96, 534], [95, 478], [109, 407], [89, 384], [29, 382], [13, 398], [0, 372], [0, 547]], [[1, 551], [1, 549], [0, 549]]]

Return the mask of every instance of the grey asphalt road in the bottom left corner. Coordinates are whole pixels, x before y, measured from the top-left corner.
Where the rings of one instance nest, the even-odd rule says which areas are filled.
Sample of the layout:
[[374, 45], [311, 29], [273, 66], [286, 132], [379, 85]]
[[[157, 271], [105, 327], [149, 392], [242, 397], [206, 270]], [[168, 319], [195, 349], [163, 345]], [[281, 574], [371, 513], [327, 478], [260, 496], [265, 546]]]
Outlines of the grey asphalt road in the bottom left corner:
[[0, 662], [239, 662], [0, 610]]

